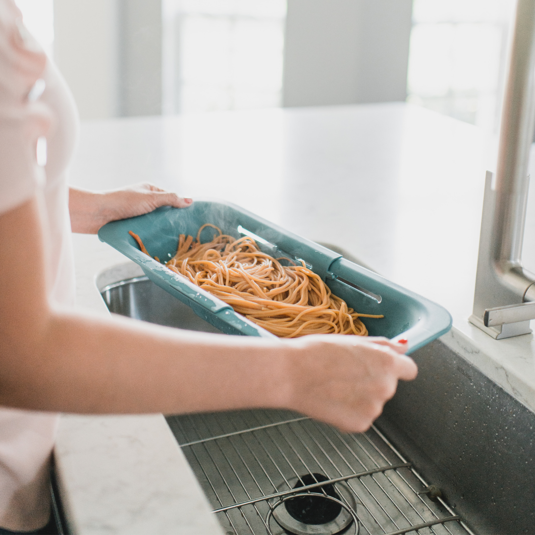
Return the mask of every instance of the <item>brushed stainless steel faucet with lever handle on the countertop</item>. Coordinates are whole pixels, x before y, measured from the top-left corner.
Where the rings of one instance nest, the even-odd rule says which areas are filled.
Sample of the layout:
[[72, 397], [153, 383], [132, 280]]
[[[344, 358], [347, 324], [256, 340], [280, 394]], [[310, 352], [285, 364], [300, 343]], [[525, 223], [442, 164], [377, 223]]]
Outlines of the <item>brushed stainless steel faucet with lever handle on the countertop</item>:
[[470, 322], [493, 338], [531, 332], [535, 274], [522, 265], [535, 129], [535, 0], [518, 0], [496, 176], [487, 172]]

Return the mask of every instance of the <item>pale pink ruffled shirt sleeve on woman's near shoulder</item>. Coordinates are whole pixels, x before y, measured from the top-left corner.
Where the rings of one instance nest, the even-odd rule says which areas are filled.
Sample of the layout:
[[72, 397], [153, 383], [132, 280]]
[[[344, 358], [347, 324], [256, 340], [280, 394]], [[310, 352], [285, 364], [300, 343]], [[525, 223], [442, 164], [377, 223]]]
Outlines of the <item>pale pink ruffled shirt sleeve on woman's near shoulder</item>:
[[27, 201], [44, 179], [36, 141], [47, 129], [47, 110], [27, 95], [46, 61], [13, 1], [0, 0], [0, 213]]

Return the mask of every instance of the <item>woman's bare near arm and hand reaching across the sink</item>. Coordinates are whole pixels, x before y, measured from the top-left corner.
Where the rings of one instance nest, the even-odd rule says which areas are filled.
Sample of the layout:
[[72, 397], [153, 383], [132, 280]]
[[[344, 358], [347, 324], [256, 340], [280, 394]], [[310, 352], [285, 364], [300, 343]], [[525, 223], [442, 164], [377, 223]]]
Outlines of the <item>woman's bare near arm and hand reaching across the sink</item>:
[[367, 429], [399, 378], [385, 339], [267, 340], [180, 331], [54, 308], [32, 199], [0, 216], [0, 404], [85, 413], [285, 407]]

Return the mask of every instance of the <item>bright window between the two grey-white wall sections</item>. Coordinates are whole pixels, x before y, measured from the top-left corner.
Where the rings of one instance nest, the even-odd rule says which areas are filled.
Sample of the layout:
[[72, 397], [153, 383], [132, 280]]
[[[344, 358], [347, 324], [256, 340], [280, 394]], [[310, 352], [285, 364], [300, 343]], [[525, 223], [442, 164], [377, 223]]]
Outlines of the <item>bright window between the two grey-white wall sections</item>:
[[286, 0], [164, 0], [164, 111], [279, 106]]

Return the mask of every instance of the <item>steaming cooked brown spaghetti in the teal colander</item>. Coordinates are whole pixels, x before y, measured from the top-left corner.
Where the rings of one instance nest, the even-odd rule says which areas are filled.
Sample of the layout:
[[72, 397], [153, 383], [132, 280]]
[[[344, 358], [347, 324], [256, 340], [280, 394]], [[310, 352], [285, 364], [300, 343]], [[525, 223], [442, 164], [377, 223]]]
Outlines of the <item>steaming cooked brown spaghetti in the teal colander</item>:
[[[201, 243], [206, 227], [219, 235]], [[132, 231], [129, 234], [148, 255], [140, 237]], [[177, 254], [165, 265], [282, 338], [328, 333], [367, 336], [359, 317], [383, 317], [348, 308], [304, 262], [283, 266], [279, 260], [262, 253], [248, 236], [236, 240], [207, 223], [196, 240], [180, 234]]]

